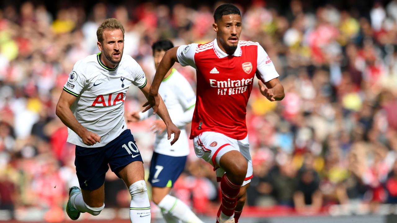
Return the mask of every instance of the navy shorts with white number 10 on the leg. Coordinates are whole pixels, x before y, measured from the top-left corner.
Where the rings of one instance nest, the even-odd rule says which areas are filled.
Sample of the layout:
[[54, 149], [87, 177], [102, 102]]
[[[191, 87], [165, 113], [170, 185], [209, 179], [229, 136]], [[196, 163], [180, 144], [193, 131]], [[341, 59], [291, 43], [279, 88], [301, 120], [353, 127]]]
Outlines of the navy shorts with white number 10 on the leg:
[[121, 167], [133, 161], [142, 161], [141, 153], [129, 129], [123, 131], [106, 146], [89, 148], [76, 146], [75, 166], [80, 188], [95, 190], [105, 182], [105, 174], [110, 169], [118, 175]]

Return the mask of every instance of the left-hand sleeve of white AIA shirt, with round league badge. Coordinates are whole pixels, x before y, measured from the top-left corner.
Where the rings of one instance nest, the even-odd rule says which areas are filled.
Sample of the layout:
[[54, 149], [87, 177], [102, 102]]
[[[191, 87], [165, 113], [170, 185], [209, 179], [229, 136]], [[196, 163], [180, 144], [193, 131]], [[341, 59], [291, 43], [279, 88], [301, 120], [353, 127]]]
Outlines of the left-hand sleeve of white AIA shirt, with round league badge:
[[69, 73], [69, 78], [64, 85], [64, 91], [76, 97], [80, 95], [80, 92], [85, 87], [86, 82], [85, 75], [83, 75], [85, 70], [82, 69], [81, 66], [81, 62], [77, 62], [74, 65], [72, 71]]

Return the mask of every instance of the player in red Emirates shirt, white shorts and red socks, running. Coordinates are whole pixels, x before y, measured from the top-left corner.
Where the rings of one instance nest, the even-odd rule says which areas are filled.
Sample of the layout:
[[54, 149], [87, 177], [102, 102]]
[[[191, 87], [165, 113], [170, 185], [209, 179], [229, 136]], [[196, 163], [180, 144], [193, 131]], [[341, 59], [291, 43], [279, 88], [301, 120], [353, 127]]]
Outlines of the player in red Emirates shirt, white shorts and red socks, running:
[[242, 22], [236, 6], [219, 6], [214, 20], [215, 40], [174, 47], [166, 52], [144, 106], [147, 106], [145, 110], [152, 107], [157, 111], [158, 88], [175, 62], [197, 70], [197, 100], [190, 138], [196, 155], [214, 167], [220, 181], [222, 204], [216, 221], [235, 223], [243, 210], [252, 178], [245, 116], [254, 76], [260, 80], [261, 94], [270, 101], [282, 100], [284, 88], [262, 46], [239, 40]]

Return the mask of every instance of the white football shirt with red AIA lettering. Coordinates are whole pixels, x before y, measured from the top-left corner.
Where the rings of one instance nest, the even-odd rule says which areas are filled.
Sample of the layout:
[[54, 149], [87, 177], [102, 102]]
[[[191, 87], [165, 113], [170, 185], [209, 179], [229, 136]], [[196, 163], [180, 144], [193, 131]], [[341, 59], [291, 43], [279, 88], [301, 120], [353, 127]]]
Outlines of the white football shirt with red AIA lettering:
[[77, 97], [71, 111], [77, 121], [101, 139], [87, 146], [71, 129], [67, 142], [83, 147], [105, 146], [123, 132], [125, 93], [129, 86], [146, 86], [147, 80], [141, 66], [129, 55], [123, 55], [115, 68], [106, 67], [100, 53], [87, 56], [75, 63], [64, 85], [64, 91]]

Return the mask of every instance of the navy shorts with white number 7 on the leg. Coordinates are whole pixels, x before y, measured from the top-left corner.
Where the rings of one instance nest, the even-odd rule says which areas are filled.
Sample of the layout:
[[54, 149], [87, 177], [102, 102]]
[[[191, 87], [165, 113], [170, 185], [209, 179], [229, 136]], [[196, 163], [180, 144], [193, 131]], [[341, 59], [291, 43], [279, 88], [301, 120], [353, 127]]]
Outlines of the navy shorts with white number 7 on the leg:
[[154, 152], [148, 182], [156, 187], [172, 187], [185, 169], [187, 156], [167, 156]]

